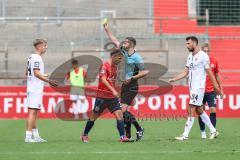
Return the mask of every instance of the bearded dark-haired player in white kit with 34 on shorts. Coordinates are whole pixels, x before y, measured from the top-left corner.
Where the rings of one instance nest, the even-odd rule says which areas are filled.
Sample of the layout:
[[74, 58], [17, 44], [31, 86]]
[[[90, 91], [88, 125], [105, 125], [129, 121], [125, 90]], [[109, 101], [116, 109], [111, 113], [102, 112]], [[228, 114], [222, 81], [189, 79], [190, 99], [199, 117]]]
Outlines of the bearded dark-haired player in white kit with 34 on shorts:
[[183, 134], [179, 137], [175, 137], [175, 139], [177, 140], [188, 139], [188, 135], [194, 123], [194, 117], [192, 115], [193, 111], [196, 111], [199, 117], [201, 117], [202, 121], [210, 129], [209, 139], [214, 139], [218, 136], [219, 133], [212, 125], [208, 115], [206, 114], [202, 107], [206, 84], [206, 73], [211, 79], [216, 93], [220, 95], [222, 95], [222, 93], [213, 76], [213, 73], [211, 72], [210, 61], [207, 53], [201, 51], [198, 48], [198, 39], [195, 36], [187, 37], [186, 46], [190, 52], [187, 58], [186, 67], [184, 68], [181, 74], [169, 80], [169, 82], [172, 83], [182, 78], [185, 78], [186, 76], [189, 76], [190, 101], [188, 108], [188, 119]]

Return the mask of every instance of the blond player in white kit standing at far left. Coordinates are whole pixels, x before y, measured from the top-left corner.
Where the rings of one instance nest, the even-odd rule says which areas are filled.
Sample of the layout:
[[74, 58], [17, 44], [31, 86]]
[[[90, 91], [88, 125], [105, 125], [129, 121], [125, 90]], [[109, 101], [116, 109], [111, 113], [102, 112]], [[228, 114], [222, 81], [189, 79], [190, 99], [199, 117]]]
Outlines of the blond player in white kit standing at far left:
[[48, 75], [44, 74], [44, 64], [42, 55], [47, 50], [47, 41], [44, 39], [36, 39], [33, 42], [35, 53], [28, 57], [27, 62], [27, 107], [28, 119], [26, 122], [26, 143], [46, 142], [39, 135], [37, 129], [37, 114], [42, 106], [42, 96], [44, 82], [56, 87], [57, 82], [49, 80]]

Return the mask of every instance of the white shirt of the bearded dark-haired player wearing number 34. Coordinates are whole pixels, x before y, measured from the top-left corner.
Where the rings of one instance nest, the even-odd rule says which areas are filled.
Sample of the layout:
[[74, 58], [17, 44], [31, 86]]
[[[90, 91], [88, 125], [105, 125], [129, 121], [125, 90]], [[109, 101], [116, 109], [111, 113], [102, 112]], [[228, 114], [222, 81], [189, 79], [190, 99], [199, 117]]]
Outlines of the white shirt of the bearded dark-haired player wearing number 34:
[[197, 91], [204, 89], [206, 85], [206, 69], [210, 68], [207, 53], [199, 51], [197, 54], [189, 54], [186, 67], [189, 69], [189, 89]]

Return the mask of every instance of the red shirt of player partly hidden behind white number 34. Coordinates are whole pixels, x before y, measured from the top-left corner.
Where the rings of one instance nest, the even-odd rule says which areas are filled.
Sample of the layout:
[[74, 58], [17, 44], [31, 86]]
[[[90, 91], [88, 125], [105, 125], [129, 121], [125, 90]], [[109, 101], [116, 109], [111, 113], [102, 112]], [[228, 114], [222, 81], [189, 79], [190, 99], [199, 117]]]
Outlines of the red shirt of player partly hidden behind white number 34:
[[[214, 77], [216, 78], [216, 74], [219, 73], [218, 61], [211, 56], [210, 56], [210, 67], [211, 67]], [[212, 81], [209, 78], [209, 76], [207, 75], [205, 92], [210, 93], [213, 91], [214, 91], [214, 87], [213, 87]]]

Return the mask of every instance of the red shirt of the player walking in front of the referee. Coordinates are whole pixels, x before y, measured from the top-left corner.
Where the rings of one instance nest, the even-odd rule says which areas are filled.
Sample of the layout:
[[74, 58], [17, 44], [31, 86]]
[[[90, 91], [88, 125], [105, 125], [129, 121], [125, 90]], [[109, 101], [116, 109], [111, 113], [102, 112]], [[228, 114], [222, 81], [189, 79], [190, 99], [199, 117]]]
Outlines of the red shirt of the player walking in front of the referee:
[[111, 90], [109, 90], [102, 82], [101, 80], [102, 77], [106, 77], [108, 83], [112, 87], [115, 87], [115, 82], [117, 78], [117, 66], [111, 65], [109, 62], [103, 63], [99, 70], [99, 83], [97, 91], [97, 97], [114, 98], [115, 96], [112, 94]]

